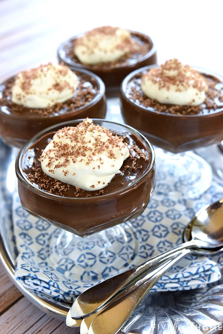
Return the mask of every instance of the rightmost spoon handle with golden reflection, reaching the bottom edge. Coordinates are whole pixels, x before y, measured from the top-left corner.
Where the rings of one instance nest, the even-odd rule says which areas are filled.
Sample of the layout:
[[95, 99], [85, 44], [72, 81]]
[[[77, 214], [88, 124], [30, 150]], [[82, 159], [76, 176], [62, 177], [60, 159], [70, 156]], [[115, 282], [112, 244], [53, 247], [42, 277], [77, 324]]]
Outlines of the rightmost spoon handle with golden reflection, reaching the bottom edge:
[[190, 252], [189, 248], [182, 249], [174, 259], [170, 259], [167, 263], [164, 262], [158, 268], [150, 271], [137, 282], [138, 286], [133, 291], [98, 314], [91, 323], [88, 334], [116, 334], [159, 278]]

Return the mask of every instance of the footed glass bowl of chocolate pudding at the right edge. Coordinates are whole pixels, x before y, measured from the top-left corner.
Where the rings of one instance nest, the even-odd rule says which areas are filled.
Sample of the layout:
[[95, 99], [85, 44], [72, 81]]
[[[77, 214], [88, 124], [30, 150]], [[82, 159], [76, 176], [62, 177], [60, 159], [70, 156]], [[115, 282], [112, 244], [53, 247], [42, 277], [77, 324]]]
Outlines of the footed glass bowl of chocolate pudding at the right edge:
[[[170, 173], [176, 174], [176, 191], [186, 197], [196, 197], [210, 186], [212, 171], [206, 161], [190, 150], [217, 144], [223, 139], [223, 78], [208, 70], [182, 66], [173, 59], [164, 65], [145, 66], [127, 75], [121, 85], [121, 111], [125, 123], [134, 125], [156, 146], [158, 174], [166, 164]], [[185, 74], [184, 70], [189, 72]], [[158, 76], [154, 77], [156, 71]], [[153, 97], [153, 91], [151, 97], [145, 94], [148, 75], [151, 76], [149, 82], [158, 87], [156, 93], [162, 102]], [[173, 90], [171, 85], [176, 82], [180, 85], [181, 80], [182, 86]], [[193, 97], [189, 84], [190, 89], [195, 89]], [[163, 91], [163, 88], [167, 89]], [[183, 105], [167, 103], [172, 98], [172, 91], [176, 94], [174, 99], [186, 92]], [[194, 104], [201, 95], [202, 102]]]

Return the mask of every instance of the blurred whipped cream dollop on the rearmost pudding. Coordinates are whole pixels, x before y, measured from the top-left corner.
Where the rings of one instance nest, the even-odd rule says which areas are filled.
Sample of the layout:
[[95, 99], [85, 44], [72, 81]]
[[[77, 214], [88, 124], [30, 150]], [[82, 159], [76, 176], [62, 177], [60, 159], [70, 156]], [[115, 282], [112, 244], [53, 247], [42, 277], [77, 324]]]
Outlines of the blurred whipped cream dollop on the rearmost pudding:
[[121, 58], [132, 48], [131, 34], [118, 27], [103, 26], [88, 31], [74, 43], [74, 53], [85, 64]]

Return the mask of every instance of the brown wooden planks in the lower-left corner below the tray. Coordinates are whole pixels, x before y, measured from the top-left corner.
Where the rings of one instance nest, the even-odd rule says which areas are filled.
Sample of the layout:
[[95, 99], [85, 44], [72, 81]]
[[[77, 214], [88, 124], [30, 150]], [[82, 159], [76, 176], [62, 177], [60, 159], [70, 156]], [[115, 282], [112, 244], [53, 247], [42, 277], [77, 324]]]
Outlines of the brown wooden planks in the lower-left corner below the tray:
[[14, 286], [0, 262], [0, 333], [60, 334], [79, 333], [65, 322], [46, 315], [28, 301]]

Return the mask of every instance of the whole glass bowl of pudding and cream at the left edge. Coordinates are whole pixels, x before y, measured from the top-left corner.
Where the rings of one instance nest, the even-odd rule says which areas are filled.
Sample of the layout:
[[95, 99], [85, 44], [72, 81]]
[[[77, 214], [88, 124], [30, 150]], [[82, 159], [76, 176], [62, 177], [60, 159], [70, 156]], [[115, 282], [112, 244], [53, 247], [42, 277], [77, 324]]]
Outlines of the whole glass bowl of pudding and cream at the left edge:
[[[18, 85], [23, 87], [24, 91], [29, 89], [30, 77], [35, 76], [34, 71], [40, 69], [44, 71], [45, 68], [50, 68], [53, 65], [51, 63], [47, 65], [40, 65], [36, 69], [30, 71], [22, 71], [20, 75], [24, 75], [24, 83], [19, 82]], [[60, 71], [60, 68], [57, 68]], [[2, 140], [10, 146], [21, 147], [29, 139], [31, 139], [39, 131], [60, 122], [65, 122], [73, 119], [95, 117], [103, 119], [106, 114], [106, 100], [105, 100], [105, 85], [103, 81], [94, 73], [81, 68], [68, 69], [67, 66], [63, 66], [64, 71], [69, 70], [75, 75], [76, 81], [70, 84], [72, 96], [68, 96], [66, 99], [67, 92], [65, 94], [65, 101], [62, 101], [52, 95], [52, 99], [49, 98], [50, 105], [44, 107], [44, 99], [40, 99], [43, 94], [47, 95], [51, 87], [47, 86], [52, 84], [50, 81], [52, 78], [48, 78], [49, 83], [43, 87], [45, 92], [39, 92], [39, 87], [34, 87], [33, 90], [38, 91], [37, 97], [33, 97], [34, 94], [28, 97], [25, 102], [28, 101], [27, 105], [20, 104], [20, 95], [23, 95], [23, 91], [14, 91], [15, 101], [12, 99], [13, 89], [15, 89], [16, 77], [10, 78], [0, 85], [0, 136]], [[63, 72], [62, 72], [63, 77]], [[66, 83], [66, 82], [65, 82]], [[64, 84], [64, 82], [63, 82]], [[74, 85], [74, 90], [73, 86]], [[61, 93], [63, 86], [61, 82], [58, 82], [58, 77], [54, 75], [53, 88], [54, 92]], [[30, 90], [31, 91], [31, 90]], [[52, 90], [51, 90], [52, 91]], [[25, 92], [26, 93], [26, 92]], [[29, 94], [30, 92], [28, 92]], [[63, 92], [62, 92], [63, 93]], [[24, 94], [25, 95], [25, 94]], [[27, 94], [26, 94], [27, 95]], [[29, 94], [31, 95], [31, 93]], [[55, 103], [51, 103], [55, 99]], [[30, 102], [30, 101], [31, 102]], [[37, 101], [38, 100], [38, 101]], [[37, 107], [35, 103], [37, 101]], [[30, 107], [31, 106], [31, 107]], [[40, 107], [39, 107], [40, 106]]]

